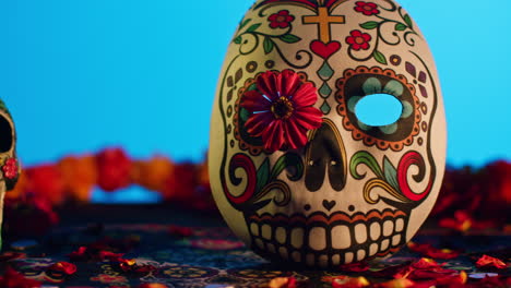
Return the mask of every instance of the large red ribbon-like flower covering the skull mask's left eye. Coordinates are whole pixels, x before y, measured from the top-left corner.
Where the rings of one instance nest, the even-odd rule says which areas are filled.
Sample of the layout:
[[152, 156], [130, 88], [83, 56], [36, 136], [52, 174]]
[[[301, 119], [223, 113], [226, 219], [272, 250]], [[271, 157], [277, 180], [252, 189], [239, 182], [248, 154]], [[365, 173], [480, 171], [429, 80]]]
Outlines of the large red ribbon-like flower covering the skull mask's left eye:
[[297, 73], [266, 71], [241, 100], [251, 113], [245, 127], [251, 136], [262, 137], [269, 152], [300, 148], [307, 143], [307, 132], [321, 125], [322, 112], [312, 107], [317, 100], [317, 88], [302, 83]]

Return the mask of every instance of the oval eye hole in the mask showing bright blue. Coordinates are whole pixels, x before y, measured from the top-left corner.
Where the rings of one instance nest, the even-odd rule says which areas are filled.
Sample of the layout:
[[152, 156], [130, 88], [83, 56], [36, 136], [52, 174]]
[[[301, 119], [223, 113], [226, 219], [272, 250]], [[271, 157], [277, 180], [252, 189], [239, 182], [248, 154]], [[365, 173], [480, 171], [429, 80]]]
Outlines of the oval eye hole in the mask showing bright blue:
[[355, 116], [369, 127], [390, 125], [400, 120], [402, 113], [403, 105], [389, 94], [367, 95], [355, 104]]

